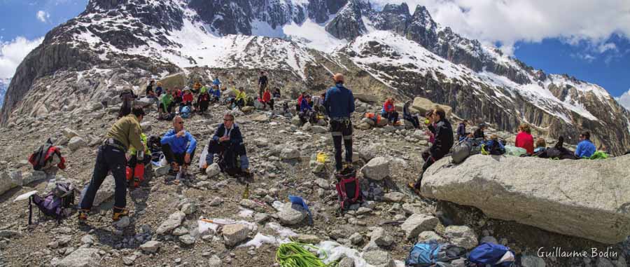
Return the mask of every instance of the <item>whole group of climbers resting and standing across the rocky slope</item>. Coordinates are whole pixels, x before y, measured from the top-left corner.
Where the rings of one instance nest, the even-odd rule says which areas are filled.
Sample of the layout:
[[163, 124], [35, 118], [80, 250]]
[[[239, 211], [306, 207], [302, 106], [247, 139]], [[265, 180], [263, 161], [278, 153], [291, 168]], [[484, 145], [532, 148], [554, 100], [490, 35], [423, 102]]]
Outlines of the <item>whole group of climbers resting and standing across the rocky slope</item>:
[[[302, 93], [297, 99], [296, 111], [302, 123], [316, 123], [316, 121], [321, 119], [321, 116], [328, 117], [330, 123], [329, 130], [332, 135], [335, 153], [335, 173], [339, 173], [342, 172], [345, 167], [352, 165], [353, 126], [351, 114], [355, 111], [355, 100], [351, 90], [344, 86], [344, 76], [342, 74], [335, 74], [332, 78], [335, 82], [335, 86], [328, 89], [322, 95], [311, 97], [311, 95]], [[261, 72], [258, 100], [262, 102], [265, 107], [268, 106], [273, 109], [273, 98], [279, 97], [280, 95], [278, 92], [277, 95], [274, 93], [272, 97], [267, 83], [267, 77], [264, 72]], [[160, 117], [162, 117], [162, 114], [170, 114], [172, 109], [178, 106], [180, 111], [183, 111], [182, 109], [185, 107], [189, 107], [192, 110], [203, 112], [207, 109], [207, 102], [218, 102], [221, 97], [221, 81], [219, 81], [218, 78], [215, 79], [213, 88], [210, 90], [208, 86], [202, 86], [197, 82], [192, 90], [185, 88], [183, 93], [181, 93], [179, 88], [164, 90], [160, 83], [157, 83], [157, 87], [153, 90], [153, 84], [154, 81], [151, 81], [146, 89], [146, 93], [148, 96], [156, 98], [162, 95], [160, 100]], [[193, 93], [197, 94], [197, 102], [195, 104], [193, 104]], [[241, 107], [246, 104], [246, 99], [246, 93], [243, 88], [239, 88], [236, 96], [228, 98], [228, 102], [236, 107]], [[410, 123], [413, 128], [420, 129], [420, 118], [410, 112], [410, 104], [411, 102], [406, 102], [403, 105], [402, 119], [405, 120], [406, 123]], [[125, 103], [123, 103], [123, 106], [124, 105]], [[283, 108], [287, 109], [287, 107], [288, 105], [285, 104]], [[127, 215], [128, 211], [125, 208], [125, 191], [127, 188], [126, 180], [128, 178], [125, 179], [124, 166], [137, 165], [139, 163], [146, 164], [147, 160], [151, 160], [151, 156], [147, 157], [146, 154], [151, 154], [153, 151], [149, 149], [150, 145], [147, 144], [147, 137], [142, 134], [140, 127], [140, 122], [145, 116], [144, 109], [135, 106], [130, 109], [128, 115], [123, 115], [124, 116], [120, 116], [118, 121], [114, 123], [106, 135], [106, 140], [99, 146], [92, 180], [85, 189], [83, 199], [80, 200], [80, 220], [87, 219], [87, 212], [89, 212], [92, 207], [96, 191], [99, 189], [99, 186], [102, 184], [108, 172], [113, 174], [116, 181], [116, 198], [112, 218], [113, 220], [118, 220], [120, 217]], [[388, 98], [384, 102], [380, 115], [386, 118], [389, 124], [400, 125], [395, 100], [393, 100], [393, 98]], [[197, 139], [195, 139], [190, 132], [185, 130], [183, 116], [176, 115], [170, 119], [173, 128], [159, 137], [158, 146], [160, 146], [160, 150], [167, 162], [166, 167], [169, 168], [168, 177], [177, 174], [186, 175], [195, 156], [195, 151], [197, 150]], [[458, 125], [456, 130], [457, 138], [455, 138], [451, 123], [447, 119], [447, 113], [442, 107], [435, 107], [435, 109], [426, 112], [423, 125], [428, 128], [426, 135], [429, 137], [428, 142], [431, 144], [428, 149], [421, 153], [424, 163], [419, 178], [416, 179], [416, 182], [409, 184], [414, 190], [420, 189], [423, 174], [428, 167], [451, 153], [451, 149], [454, 147], [456, 140], [458, 142], [472, 142], [476, 140], [482, 144], [482, 151], [492, 155], [503, 154], [507, 149], [505, 142], [500, 140], [497, 135], [486, 137], [484, 131], [487, 130], [488, 126], [484, 123], [480, 124], [474, 132], [467, 132], [466, 126], [468, 125], [468, 121], [464, 120]], [[151, 137], [151, 139], [153, 139], [153, 137]], [[573, 156], [575, 158], [589, 158], [593, 156], [594, 153], [596, 153], [596, 149], [594, 144], [590, 141], [589, 132], [582, 132], [580, 140], [581, 142], [578, 144], [577, 151], [575, 151]], [[153, 144], [155, 144], [154, 139]], [[534, 142], [531, 129], [528, 125], [519, 126], [519, 134], [515, 139], [514, 146], [524, 149], [526, 156], [563, 158], [568, 153], [568, 150], [562, 147], [562, 138], [554, 148], [547, 148], [545, 139], [542, 138], [538, 138]], [[151, 147], [153, 147], [153, 145], [151, 145]], [[227, 172], [228, 174], [244, 174], [245, 177], [251, 177], [244, 138], [239, 125], [235, 123], [235, 116], [233, 114], [228, 112], [223, 116], [223, 123], [219, 125], [214, 135], [209, 137], [209, 142], [206, 147], [207, 151], [204, 151], [204, 154], [207, 156], [201, 159], [204, 162], [200, 165], [202, 170], [217, 163], [223, 172]], [[125, 152], [132, 148], [136, 149], [130, 159], [128, 159]], [[553, 149], [559, 152], [552, 152]], [[345, 152], [345, 158], [342, 157], [343, 152]], [[131, 160], [132, 158], [134, 158], [134, 160]], [[166, 182], [169, 182], [169, 179], [167, 179]]]

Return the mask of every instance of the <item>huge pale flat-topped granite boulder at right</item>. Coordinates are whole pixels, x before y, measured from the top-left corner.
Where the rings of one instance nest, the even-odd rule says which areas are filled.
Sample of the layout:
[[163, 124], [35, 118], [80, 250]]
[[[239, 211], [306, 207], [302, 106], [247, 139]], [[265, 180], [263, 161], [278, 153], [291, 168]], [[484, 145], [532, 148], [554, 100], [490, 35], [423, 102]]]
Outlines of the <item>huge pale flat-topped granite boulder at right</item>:
[[438, 160], [423, 196], [474, 206], [489, 217], [606, 244], [630, 234], [630, 156], [548, 160], [475, 155]]

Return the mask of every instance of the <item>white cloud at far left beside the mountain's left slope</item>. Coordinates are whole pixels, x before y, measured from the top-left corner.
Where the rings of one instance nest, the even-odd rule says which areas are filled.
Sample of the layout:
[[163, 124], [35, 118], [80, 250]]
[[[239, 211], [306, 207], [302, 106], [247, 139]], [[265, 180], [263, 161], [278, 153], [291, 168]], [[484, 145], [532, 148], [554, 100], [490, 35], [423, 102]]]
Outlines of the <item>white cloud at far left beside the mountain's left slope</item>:
[[43, 37], [27, 40], [20, 36], [10, 42], [0, 42], [0, 78], [13, 77], [15, 69], [18, 68], [24, 57], [39, 46], [42, 41]]

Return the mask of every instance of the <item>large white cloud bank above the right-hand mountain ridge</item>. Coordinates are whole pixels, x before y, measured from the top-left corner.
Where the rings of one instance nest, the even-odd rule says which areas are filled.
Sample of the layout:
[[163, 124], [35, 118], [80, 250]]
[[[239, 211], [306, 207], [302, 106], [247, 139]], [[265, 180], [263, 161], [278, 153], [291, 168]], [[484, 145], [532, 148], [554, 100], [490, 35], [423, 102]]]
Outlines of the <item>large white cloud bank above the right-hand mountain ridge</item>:
[[[627, 0], [372, 0], [377, 6], [406, 2], [413, 13], [426, 6], [433, 19], [483, 43], [510, 48], [517, 41], [559, 38], [587, 41], [598, 48], [611, 34], [630, 37]], [[610, 49], [610, 46], [602, 46]], [[605, 50], [604, 50], [605, 51]], [[509, 50], [506, 50], [509, 53]]]

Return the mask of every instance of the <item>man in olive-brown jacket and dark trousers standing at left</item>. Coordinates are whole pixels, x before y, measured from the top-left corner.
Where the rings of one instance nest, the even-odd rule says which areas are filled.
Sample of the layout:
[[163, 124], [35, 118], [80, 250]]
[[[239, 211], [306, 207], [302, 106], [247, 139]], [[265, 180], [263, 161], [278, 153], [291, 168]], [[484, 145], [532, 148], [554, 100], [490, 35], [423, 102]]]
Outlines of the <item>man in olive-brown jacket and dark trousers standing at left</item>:
[[[132, 114], [118, 119], [106, 134], [106, 139], [97, 153], [94, 173], [90, 184], [83, 190], [79, 204], [79, 221], [87, 220], [87, 214], [92, 209], [94, 197], [103, 180], [111, 172], [116, 182], [114, 193], [113, 215], [111, 219], [118, 221], [129, 214], [127, 207], [127, 179], [125, 175], [125, 165], [127, 158], [125, 153], [130, 146], [137, 147], [144, 151], [144, 144], [141, 140], [140, 122], [144, 118], [144, 109], [136, 106], [132, 109]], [[142, 160], [142, 159], [141, 159]]]

